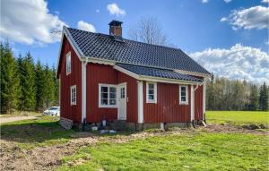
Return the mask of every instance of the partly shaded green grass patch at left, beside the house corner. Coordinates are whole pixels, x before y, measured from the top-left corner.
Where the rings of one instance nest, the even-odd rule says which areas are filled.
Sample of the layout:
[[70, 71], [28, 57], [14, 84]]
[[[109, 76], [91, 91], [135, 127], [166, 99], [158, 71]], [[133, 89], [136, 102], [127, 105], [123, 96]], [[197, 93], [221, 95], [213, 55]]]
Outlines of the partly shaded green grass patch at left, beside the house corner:
[[65, 143], [74, 133], [73, 130], [61, 128], [58, 118], [53, 116], [1, 124], [0, 128], [2, 140], [13, 141], [26, 149]]

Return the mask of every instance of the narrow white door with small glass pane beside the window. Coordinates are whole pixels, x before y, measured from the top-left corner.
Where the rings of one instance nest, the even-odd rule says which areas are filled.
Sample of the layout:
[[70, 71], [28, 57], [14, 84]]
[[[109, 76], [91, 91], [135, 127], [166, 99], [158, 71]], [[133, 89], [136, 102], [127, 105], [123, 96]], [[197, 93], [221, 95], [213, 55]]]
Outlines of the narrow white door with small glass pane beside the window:
[[117, 119], [126, 120], [126, 83], [117, 87]]

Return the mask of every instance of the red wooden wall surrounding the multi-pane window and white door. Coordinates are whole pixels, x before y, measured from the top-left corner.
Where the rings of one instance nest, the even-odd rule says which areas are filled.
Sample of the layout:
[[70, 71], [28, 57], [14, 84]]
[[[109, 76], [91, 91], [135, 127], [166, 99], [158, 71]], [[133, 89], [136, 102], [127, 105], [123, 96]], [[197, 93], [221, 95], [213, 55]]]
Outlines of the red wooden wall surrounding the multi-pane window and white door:
[[99, 84], [119, 84], [126, 82], [126, 122], [137, 122], [137, 83], [125, 73], [117, 72], [112, 66], [105, 64], [87, 64], [86, 66], [86, 121], [100, 122], [103, 119], [117, 119], [117, 108], [99, 107]]

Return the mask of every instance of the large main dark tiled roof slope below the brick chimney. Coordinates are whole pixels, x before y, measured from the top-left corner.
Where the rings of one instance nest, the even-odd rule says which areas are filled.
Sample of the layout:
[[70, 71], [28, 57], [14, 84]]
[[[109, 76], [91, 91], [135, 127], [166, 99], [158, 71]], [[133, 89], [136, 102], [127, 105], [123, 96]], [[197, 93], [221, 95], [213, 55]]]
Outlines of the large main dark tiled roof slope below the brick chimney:
[[123, 42], [100, 33], [67, 28], [83, 56], [112, 60], [117, 63], [208, 73], [202, 66], [177, 48], [161, 47], [123, 38]]

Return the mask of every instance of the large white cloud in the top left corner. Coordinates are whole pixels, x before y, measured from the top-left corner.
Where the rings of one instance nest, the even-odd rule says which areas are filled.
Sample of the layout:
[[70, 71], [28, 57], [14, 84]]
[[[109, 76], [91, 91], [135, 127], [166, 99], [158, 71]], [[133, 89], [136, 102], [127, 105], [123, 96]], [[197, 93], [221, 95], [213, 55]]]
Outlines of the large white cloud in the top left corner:
[[52, 31], [61, 31], [65, 22], [49, 13], [47, 2], [8, 0], [1, 4], [2, 38], [25, 44], [46, 44], [60, 40], [61, 34], [53, 34]]

